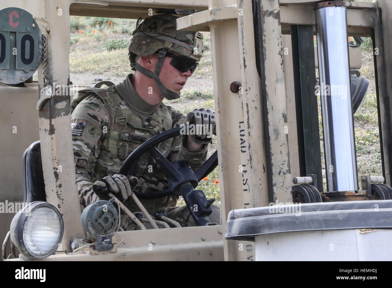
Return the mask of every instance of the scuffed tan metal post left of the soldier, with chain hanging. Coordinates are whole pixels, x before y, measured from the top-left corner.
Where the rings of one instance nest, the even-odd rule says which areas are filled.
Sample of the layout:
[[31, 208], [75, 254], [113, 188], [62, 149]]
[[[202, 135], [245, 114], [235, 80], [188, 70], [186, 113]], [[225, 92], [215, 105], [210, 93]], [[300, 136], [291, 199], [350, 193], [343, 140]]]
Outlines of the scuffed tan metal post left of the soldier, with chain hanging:
[[[68, 85], [70, 2], [68, 0], [46, 0], [44, 3], [44, 10], [39, 18], [42, 17], [40, 29], [47, 39], [47, 85]], [[62, 49], [58, 47], [59, 43], [63, 43]], [[40, 89], [44, 87], [42, 72], [42, 68], [38, 70], [38, 96], [40, 96]], [[44, 102], [39, 111], [46, 199], [58, 208], [63, 216], [63, 250], [71, 250], [73, 238], [84, 238], [80, 223], [80, 201], [75, 181], [70, 98], [69, 95], [54, 95]]]

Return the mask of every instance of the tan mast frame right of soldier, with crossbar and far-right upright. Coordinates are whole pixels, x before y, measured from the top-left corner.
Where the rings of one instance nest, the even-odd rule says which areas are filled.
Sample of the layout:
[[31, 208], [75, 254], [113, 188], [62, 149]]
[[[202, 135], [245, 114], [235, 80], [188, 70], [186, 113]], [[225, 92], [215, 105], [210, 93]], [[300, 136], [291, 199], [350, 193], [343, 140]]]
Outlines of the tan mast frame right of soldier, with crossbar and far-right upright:
[[[270, 201], [292, 201], [290, 172], [298, 171], [298, 161], [295, 161], [296, 157], [298, 159], [298, 144], [292, 60], [283, 56], [283, 48], [290, 47], [291, 41], [285, 37], [283, 46], [282, 34], [290, 34], [290, 25], [293, 24], [315, 27], [313, 8], [316, 2], [320, 1], [260, 0], [263, 31], [261, 79], [256, 70], [257, 51], [254, 50], [250, 1], [211, 0], [208, 11], [177, 20], [178, 29], [211, 31], [223, 228], [227, 213], [232, 209], [267, 206]], [[377, 47], [388, 51], [385, 47], [392, 44], [392, 31], [390, 26], [387, 27], [388, 22], [381, 21], [380, 17], [382, 11], [392, 11], [392, 4], [379, 0], [346, 1], [346, 5], [348, 33], [352, 36], [372, 36], [373, 29], [376, 29]], [[384, 109], [390, 109], [392, 104], [387, 97], [387, 92], [389, 95], [392, 92], [392, 84], [387, 81], [387, 76], [391, 76], [392, 72], [390, 57], [385, 52], [377, 57], [377, 67], [382, 67], [379, 68], [382, 72], [379, 75], [379, 84], [382, 83], [379, 97], [384, 99], [380, 101]], [[243, 94], [230, 92], [232, 81], [241, 82]], [[239, 110], [239, 107], [242, 109]], [[381, 113], [381, 122], [388, 129], [391, 119], [384, 115]], [[286, 128], [288, 135], [285, 134]], [[383, 140], [384, 146], [391, 150], [390, 144]], [[384, 153], [387, 154], [385, 149]], [[294, 159], [292, 165], [290, 156]], [[388, 163], [385, 163], [385, 167], [388, 167]], [[247, 173], [244, 173], [245, 170]], [[251, 259], [251, 243], [246, 243], [247, 249], [241, 250], [242, 244], [239, 241], [225, 241], [225, 259]]]

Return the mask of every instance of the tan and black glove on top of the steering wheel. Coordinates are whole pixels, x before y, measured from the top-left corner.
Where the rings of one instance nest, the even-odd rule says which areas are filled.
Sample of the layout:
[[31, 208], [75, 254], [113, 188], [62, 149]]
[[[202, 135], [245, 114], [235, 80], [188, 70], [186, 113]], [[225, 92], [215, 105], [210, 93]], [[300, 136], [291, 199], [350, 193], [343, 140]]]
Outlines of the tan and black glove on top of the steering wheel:
[[197, 144], [210, 143], [212, 134], [216, 135], [215, 119], [215, 112], [211, 110], [193, 110], [184, 119], [188, 137]]

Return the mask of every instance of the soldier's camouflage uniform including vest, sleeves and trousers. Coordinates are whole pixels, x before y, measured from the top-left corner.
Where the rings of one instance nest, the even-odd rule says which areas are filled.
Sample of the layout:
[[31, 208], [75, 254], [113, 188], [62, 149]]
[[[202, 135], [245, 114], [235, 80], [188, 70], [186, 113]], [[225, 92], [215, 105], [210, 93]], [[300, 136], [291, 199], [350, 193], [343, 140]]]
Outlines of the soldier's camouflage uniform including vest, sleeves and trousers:
[[[95, 181], [118, 173], [123, 161], [140, 144], [183, 122], [184, 115], [178, 110], [164, 103], [153, 106], [145, 102], [132, 86], [131, 77], [129, 74], [122, 83], [107, 89], [82, 90], [72, 100], [76, 184], [83, 207], [98, 200], [92, 188]], [[207, 158], [207, 145], [190, 152], [181, 136], [168, 139], [157, 148], [171, 162], [187, 160], [192, 169], [200, 167]], [[139, 160], [136, 176], [140, 175], [164, 176], [148, 152]], [[177, 199], [177, 196], [166, 196], [140, 201], [154, 215], [164, 207], [175, 207]], [[124, 204], [131, 212], [140, 211], [131, 197]], [[166, 208], [165, 212], [182, 226], [195, 226], [186, 206]]]

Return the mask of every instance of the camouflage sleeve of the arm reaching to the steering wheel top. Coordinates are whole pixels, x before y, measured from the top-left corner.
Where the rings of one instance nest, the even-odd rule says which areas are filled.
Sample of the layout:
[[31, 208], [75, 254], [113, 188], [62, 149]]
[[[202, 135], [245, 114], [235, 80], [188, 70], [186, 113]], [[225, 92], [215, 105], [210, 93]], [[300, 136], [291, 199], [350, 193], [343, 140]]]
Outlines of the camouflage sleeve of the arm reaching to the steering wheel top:
[[[171, 110], [171, 114], [173, 119], [172, 128], [179, 127], [183, 123], [185, 115], [174, 109]], [[169, 161], [183, 159], [189, 163], [189, 166], [191, 166], [193, 170], [196, 170], [200, 168], [207, 159], [208, 145], [204, 145], [204, 147], [200, 150], [189, 151], [185, 148], [185, 143], [187, 143], [186, 136], [184, 137], [180, 135], [173, 139]]]

